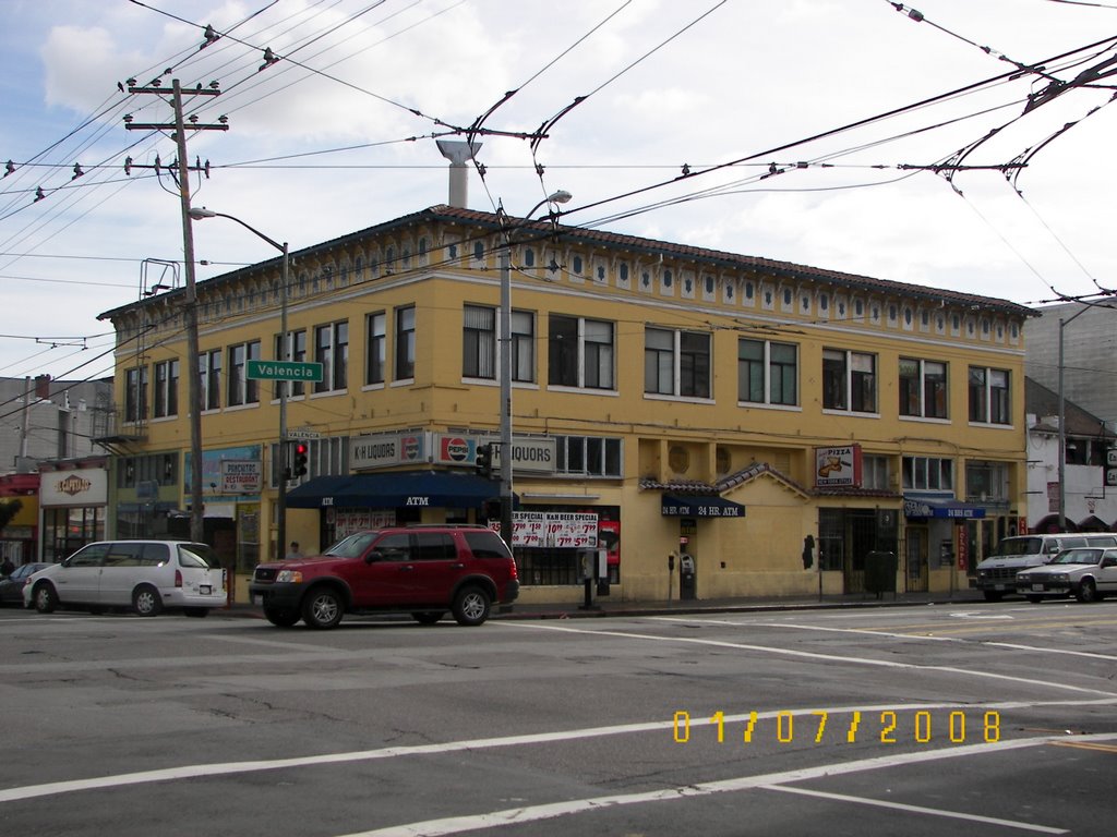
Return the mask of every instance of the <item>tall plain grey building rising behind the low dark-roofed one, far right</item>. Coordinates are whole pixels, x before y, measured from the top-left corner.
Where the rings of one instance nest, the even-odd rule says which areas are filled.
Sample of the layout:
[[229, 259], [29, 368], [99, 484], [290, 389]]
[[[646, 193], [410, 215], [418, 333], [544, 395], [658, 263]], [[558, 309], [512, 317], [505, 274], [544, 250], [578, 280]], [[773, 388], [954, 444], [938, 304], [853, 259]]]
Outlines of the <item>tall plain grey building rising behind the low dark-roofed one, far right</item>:
[[[1062, 333], [1063, 396], [1117, 429], [1117, 301], [1037, 308], [1028, 324], [1024, 372], [1059, 392], [1059, 337]], [[1062, 321], [1062, 328], [1059, 324]]]

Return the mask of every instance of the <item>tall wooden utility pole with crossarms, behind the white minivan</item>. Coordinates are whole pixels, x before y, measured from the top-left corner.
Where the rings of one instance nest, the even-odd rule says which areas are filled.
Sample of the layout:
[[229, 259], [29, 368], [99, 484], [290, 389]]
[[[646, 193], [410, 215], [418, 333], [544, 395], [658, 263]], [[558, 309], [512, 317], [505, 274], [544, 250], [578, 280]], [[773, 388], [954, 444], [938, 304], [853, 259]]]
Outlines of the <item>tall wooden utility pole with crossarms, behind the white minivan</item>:
[[[136, 87], [128, 79], [128, 93], [146, 93], [165, 96], [166, 90], [160, 87], [157, 79], [149, 87]], [[188, 90], [191, 96], [219, 96], [221, 92], [213, 81], [208, 88], [198, 85]], [[187, 277], [187, 381], [190, 410], [190, 539], [202, 542], [206, 536], [202, 500], [202, 397], [201, 375], [198, 368], [200, 350], [198, 347], [198, 291], [194, 283], [194, 237], [190, 218], [190, 164], [187, 156], [187, 124], [182, 116], [182, 85], [179, 79], [172, 81], [172, 105], [174, 107], [174, 124], [161, 125], [152, 123], [135, 123], [131, 115], [124, 117], [128, 131], [165, 131], [174, 129], [178, 145], [178, 181], [179, 199], [182, 209], [182, 258]], [[225, 117], [218, 124], [203, 125], [191, 121], [189, 127], [193, 131], [228, 131]]]

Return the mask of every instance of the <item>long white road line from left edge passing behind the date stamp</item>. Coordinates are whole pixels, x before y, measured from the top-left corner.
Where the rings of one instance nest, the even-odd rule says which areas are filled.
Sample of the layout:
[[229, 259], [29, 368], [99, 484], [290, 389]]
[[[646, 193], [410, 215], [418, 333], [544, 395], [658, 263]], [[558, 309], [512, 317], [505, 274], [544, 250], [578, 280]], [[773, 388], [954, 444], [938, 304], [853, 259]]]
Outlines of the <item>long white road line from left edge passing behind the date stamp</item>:
[[[876, 711], [906, 712], [933, 709], [1012, 710], [1031, 709], [1037, 706], [1095, 706], [1099, 704], [1114, 703], [1117, 703], [1117, 698], [1094, 701], [1002, 701], [996, 703], [965, 703], [956, 701], [942, 703], [887, 703], [880, 705], [866, 705], [862, 703], [850, 706], [804, 708], [796, 710], [796, 712], [829, 712], [830, 714], [839, 715], [851, 712]], [[757, 712], [756, 720], [771, 720], [784, 712], [786, 712], [786, 710]], [[725, 715], [719, 719], [719, 721], [725, 724], [732, 724], [747, 722], [752, 719], [752, 712], [741, 712], [738, 714]], [[690, 727], [712, 727], [715, 723], [717, 723], [717, 721], [714, 719], [696, 718], [690, 721]], [[285, 770], [287, 768], [316, 767], [321, 764], [343, 764], [354, 761], [378, 761], [405, 756], [431, 756], [448, 752], [462, 752], [465, 750], [490, 750], [500, 747], [547, 744], [563, 741], [603, 738], [607, 735], [626, 735], [639, 732], [667, 732], [674, 731], [675, 729], [676, 720], [672, 718], [671, 720], [666, 721], [647, 721], [639, 723], [614, 724], [612, 727], [591, 727], [579, 730], [563, 730], [558, 732], [538, 732], [523, 735], [471, 739], [466, 741], [447, 741], [440, 744], [385, 747], [379, 750], [356, 750], [352, 752], [325, 753], [321, 756], [303, 756], [290, 759], [227, 761], [211, 764], [181, 764], [179, 767], [163, 768], [160, 770], [144, 770], [135, 773], [115, 773], [113, 776], [98, 776], [93, 779], [70, 779], [65, 781], [46, 782], [42, 785], [27, 785], [19, 788], [0, 789], [0, 804], [15, 802], [23, 799], [35, 799], [37, 797], [76, 793], [85, 790], [121, 788], [132, 785], [150, 785], [153, 782], [174, 781], [180, 779], [231, 776], [235, 773], [252, 773], [264, 770]], [[1082, 741], [1087, 738], [1089, 737], [1076, 738], [1075, 740]], [[1052, 740], [1062, 740], [1062, 738], [1053, 737]]]

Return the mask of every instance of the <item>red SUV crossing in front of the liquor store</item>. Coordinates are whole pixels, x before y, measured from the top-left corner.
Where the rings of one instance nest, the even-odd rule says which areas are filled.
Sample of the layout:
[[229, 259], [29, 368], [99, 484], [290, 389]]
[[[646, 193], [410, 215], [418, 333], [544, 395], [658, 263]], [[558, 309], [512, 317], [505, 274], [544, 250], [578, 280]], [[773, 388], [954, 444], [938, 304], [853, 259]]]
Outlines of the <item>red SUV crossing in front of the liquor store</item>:
[[346, 613], [410, 612], [432, 625], [447, 610], [480, 625], [519, 595], [512, 552], [483, 526], [392, 527], [350, 535], [323, 555], [260, 564], [248, 586], [273, 625], [336, 627]]

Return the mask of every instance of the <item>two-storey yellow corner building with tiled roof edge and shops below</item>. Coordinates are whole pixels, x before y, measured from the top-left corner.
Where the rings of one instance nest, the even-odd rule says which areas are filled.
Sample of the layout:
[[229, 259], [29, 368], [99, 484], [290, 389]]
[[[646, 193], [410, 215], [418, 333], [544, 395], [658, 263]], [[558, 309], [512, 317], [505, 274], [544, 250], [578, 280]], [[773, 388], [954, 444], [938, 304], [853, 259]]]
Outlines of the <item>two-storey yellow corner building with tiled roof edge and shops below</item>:
[[[486, 519], [509, 240], [522, 602], [577, 600], [592, 547], [626, 600], [858, 591], [867, 568], [869, 589], [946, 590], [1022, 526], [1029, 309], [440, 205], [292, 254], [287, 358], [321, 382], [248, 376], [283, 357], [279, 259], [198, 283], [207, 537], [239, 596], [283, 551], [280, 386], [304, 552]], [[117, 536], [173, 531], [190, 500], [184, 298], [102, 315]]]

